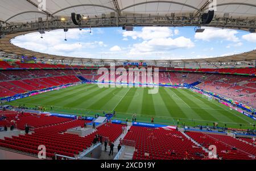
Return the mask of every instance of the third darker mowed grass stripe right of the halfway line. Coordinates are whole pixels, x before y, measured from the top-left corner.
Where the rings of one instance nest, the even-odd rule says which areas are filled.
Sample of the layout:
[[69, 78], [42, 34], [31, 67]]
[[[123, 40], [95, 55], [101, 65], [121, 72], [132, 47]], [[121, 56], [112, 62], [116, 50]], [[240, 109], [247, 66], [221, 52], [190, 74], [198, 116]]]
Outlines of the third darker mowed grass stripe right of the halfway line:
[[181, 108], [176, 104], [174, 99], [172, 99], [170, 95], [167, 93], [166, 89], [167, 88], [160, 88], [159, 94], [160, 97], [162, 97], [162, 102], [166, 109], [168, 110], [170, 116], [173, 118], [187, 118], [187, 116], [184, 114]]

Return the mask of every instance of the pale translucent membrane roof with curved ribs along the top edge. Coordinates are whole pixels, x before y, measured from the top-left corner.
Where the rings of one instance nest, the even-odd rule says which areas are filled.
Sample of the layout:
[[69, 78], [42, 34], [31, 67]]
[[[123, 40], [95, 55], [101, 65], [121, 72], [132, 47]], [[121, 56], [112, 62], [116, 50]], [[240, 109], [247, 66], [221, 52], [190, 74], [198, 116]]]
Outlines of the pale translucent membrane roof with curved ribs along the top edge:
[[[212, 0], [210, 0], [212, 1]], [[42, 3], [39, 3], [42, 2]], [[71, 12], [84, 14], [90, 18], [100, 17], [117, 11], [125, 14], [168, 15], [197, 14], [207, 10], [209, 0], [1, 0], [0, 20], [6, 22], [30, 22], [36, 18], [48, 16], [70, 16]], [[232, 18], [255, 18], [255, 0], [217, 0], [215, 15], [222, 17], [229, 13]], [[214, 4], [214, 3], [213, 3]], [[38, 10], [38, 6], [42, 7]]]

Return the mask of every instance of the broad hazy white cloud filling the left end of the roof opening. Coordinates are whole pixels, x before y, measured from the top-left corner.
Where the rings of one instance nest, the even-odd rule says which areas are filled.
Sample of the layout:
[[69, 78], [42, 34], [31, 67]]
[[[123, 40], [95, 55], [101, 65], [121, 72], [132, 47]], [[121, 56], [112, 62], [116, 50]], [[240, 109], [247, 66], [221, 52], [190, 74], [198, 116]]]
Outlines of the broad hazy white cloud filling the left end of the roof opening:
[[[36, 52], [48, 53], [61, 56], [89, 56], [85, 49], [107, 47], [103, 41], [84, 41], [89, 36], [89, 30], [70, 29], [67, 32], [67, 40], [63, 30], [55, 30], [43, 34], [43, 39], [39, 32], [15, 37], [12, 43], [19, 47], [30, 49]], [[93, 31], [92, 31], [93, 32]], [[81, 42], [78, 42], [81, 40]]]

